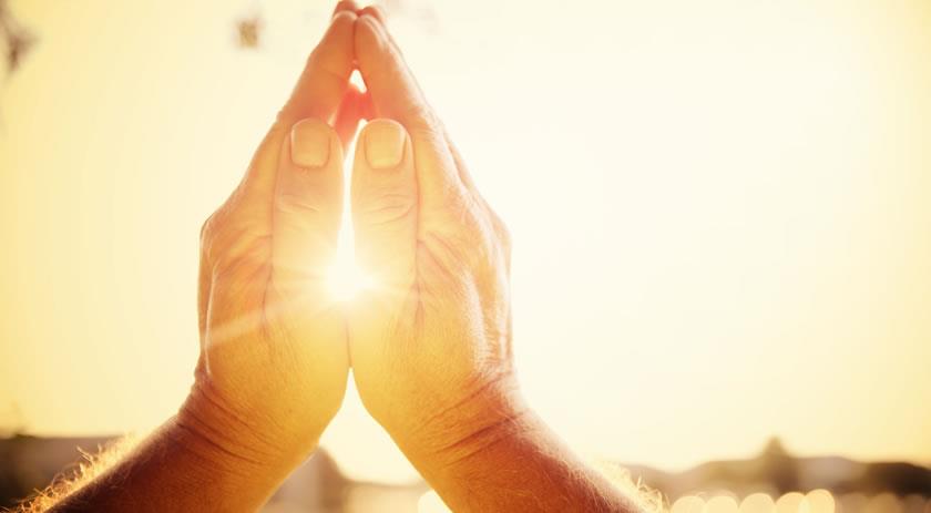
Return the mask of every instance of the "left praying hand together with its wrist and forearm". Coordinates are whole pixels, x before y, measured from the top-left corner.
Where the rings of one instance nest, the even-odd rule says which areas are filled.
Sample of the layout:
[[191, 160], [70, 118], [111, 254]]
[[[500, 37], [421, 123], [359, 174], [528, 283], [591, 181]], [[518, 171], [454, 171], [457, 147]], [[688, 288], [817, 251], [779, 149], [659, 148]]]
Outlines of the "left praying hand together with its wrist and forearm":
[[342, 211], [341, 147], [360, 119], [348, 84], [356, 18], [354, 6], [337, 8], [242, 183], [203, 226], [190, 397], [54, 511], [255, 510], [339, 410], [349, 358], [327, 270]]

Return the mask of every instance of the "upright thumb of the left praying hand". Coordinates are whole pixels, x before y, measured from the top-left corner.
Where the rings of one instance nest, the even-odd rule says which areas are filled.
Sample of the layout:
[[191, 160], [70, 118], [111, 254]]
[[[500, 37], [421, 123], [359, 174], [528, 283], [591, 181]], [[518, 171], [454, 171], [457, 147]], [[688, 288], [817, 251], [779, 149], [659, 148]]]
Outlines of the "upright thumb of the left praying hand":
[[282, 145], [272, 230], [272, 280], [311, 291], [336, 253], [342, 212], [342, 148], [320, 120], [297, 122]]

